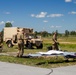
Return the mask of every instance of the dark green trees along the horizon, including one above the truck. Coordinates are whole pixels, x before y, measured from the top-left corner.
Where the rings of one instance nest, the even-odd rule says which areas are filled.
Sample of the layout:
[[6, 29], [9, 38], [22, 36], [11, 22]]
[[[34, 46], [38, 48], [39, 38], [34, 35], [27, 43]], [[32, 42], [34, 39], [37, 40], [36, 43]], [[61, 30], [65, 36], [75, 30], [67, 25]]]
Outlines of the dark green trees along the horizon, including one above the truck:
[[[13, 27], [13, 25], [10, 22], [7, 22], [7, 23], [5, 23], [5, 27]], [[3, 30], [1, 32], [3, 34]], [[76, 36], [76, 31], [65, 30], [64, 33], [59, 33], [58, 30], [56, 30], [55, 32], [57, 32], [58, 36], [66, 36], [66, 37], [68, 37], [68, 36]], [[51, 32], [51, 33], [47, 32], [47, 31], [40, 31], [40, 32], [35, 31], [35, 36], [36, 35], [40, 35], [42, 37], [49, 37], [49, 36], [52, 36], [53, 33], [54, 33], [54, 31]]]

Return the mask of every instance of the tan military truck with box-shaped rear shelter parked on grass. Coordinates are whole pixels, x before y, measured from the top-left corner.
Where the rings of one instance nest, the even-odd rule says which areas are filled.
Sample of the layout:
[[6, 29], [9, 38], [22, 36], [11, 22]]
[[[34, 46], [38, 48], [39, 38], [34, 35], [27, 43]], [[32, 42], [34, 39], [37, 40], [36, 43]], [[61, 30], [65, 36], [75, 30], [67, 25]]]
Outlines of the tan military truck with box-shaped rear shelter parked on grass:
[[33, 29], [20, 27], [5, 27], [3, 40], [6, 42], [9, 48], [17, 45], [17, 33], [18, 30], [21, 31], [22, 29], [24, 30], [24, 45], [26, 48], [31, 49], [34, 46], [37, 49], [43, 48], [43, 41], [41, 37], [34, 36]]

